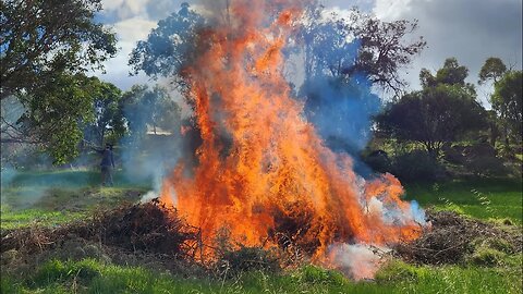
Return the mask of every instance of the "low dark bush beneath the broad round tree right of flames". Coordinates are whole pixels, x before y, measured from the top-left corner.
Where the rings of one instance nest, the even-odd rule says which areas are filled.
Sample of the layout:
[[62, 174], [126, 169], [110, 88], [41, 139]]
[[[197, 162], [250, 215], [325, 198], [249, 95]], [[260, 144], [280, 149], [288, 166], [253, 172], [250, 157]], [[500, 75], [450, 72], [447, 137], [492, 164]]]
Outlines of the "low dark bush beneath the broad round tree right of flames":
[[392, 161], [392, 173], [401, 181], [435, 181], [445, 177], [445, 168], [427, 152], [413, 150]]

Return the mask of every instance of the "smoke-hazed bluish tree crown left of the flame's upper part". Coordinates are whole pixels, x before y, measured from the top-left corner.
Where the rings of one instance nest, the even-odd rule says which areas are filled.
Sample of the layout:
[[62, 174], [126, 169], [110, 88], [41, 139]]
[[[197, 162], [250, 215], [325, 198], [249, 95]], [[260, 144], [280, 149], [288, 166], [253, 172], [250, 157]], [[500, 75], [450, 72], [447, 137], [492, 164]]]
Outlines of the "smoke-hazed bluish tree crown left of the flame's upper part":
[[193, 53], [195, 32], [204, 24], [204, 17], [182, 3], [178, 13], [158, 22], [147, 40], [141, 40], [133, 49], [129, 64], [133, 73], [144, 71], [148, 76], [174, 77], [184, 86], [179, 73]]

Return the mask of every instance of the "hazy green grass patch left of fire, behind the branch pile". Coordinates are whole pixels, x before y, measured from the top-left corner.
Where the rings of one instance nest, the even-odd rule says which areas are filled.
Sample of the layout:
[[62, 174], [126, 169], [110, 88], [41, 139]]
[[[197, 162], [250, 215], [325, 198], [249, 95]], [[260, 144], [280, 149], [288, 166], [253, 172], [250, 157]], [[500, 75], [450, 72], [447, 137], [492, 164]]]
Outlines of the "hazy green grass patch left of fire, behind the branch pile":
[[92, 171], [20, 172], [1, 188], [0, 229], [70, 222], [99, 207], [136, 201], [149, 188], [120, 174], [114, 187], [101, 187], [99, 174]]

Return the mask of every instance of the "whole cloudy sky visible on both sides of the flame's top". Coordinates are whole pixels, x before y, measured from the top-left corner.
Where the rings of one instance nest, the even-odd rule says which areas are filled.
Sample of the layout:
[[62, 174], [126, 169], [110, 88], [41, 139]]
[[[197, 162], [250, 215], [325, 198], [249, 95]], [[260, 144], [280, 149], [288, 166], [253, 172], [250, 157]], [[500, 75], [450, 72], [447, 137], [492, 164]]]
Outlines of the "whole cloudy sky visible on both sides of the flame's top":
[[[102, 0], [104, 11], [97, 15], [118, 35], [120, 52], [107, 61], [101, 79], [126, 90], [147, 83], [144, 74], [129, 76], [127, 59], [136, 41], [145, 39], [159, 20], [180, 9], [182, 2], [198, 5], [198, 0]], [[433, 72], [446, 58], [455, 57], [470, 70], [470, 83], [477, 82], [481, 66], [489, 57], [522, 68], [522, 1], [521, 0], [319, 0], [327, 9], [342, 13], [352, 7], [374, 13], [382, 21], [417, 20], [418, 29], [411, 35], [423, 36], [427, 48], [402, 69], [411, 89], [418, 89], [422, 68]], [[478, 87], [479, 99], [487, 103], [490, 87]]]

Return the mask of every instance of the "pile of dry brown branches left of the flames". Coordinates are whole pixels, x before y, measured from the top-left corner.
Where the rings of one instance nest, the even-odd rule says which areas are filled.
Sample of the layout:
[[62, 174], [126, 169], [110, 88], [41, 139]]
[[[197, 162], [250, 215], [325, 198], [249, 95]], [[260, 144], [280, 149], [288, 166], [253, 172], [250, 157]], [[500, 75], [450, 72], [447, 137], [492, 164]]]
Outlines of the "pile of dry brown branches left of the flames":
[[122, 205], [86, 220], [57, 228], [29, 226], [2, 232], [1, 253], [15, 249], [31, 255], [83, 238], [129, 252], [195, 254], [199, 231], [182, 221], [174, 208], [158, 201]]

